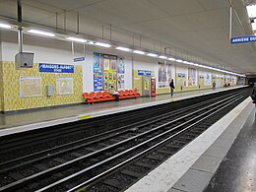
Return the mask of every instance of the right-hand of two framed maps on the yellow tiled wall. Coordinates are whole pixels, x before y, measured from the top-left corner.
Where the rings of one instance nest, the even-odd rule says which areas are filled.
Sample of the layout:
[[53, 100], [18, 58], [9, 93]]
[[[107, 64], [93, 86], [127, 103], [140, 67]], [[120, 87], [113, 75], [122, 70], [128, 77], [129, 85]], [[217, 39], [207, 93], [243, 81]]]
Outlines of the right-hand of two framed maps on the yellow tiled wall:
[[73, 78], [72, 77], [57, 77], [57, 95], [73, 94]]

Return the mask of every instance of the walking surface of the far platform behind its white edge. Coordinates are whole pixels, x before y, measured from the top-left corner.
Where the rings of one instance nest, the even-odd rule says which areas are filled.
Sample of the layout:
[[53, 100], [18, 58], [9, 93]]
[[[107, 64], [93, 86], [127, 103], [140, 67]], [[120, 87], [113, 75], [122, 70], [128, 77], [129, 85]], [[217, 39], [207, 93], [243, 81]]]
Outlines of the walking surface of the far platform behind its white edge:
[[[85, 116], [87, 114], [92, 114], [96, 112], [97, 112], [97, 116], [100, 116], [100, 115], [106, 114], [107, 110], [109, 109], [124, 108], [124, 110], [128, 110], [127, 108], [125, 108], [126, 106], [135, 106], [135, 105], [139, 106], [140, 104], [154, 105], [154, 103], [155, 104], [160, 103], [159, 101], [169, 102], [170, 99], [171, 101], [175, 101], [178, 99], [185, 99], [187, 97], [211, 94], [213, 92], [222, 92], [227, 89], [235, 89], [235, 88], [237, 87], [219, 88], [216, 91], [198, 90], [193, 92], [183, 92], [183, 93], [176, 93], [176, 94], [174, 93], [174, 96], [172, 98], [167, 94], [167, 95], [160, 95], [156, 97], [140, 97], [136, 99], [132, 98], [132, 99], [123, 99], [119, 101], [98, 102], [95, 104], [78, 104], [74, 106], [51, 107], [46, 109], [17, 111], [17, 112], [12, 112], [7, 114], [0, 114], [0, 133], [1, 133], [1, 130], [3, 129], [17, 127], [17, 126], [23, 126], [28, 124], [40, 123], [40, 122], [49, 122], [49, 121], [53, 121], [56, 119], [63, 119], [63, 118], [68, 118], [68, 120], [67, 121], [61, 120], [62, 122], [70, 122], [70, 121], [75, 121], [78, 118], [78, 116]], [[59, 122], [56, 122], [56, 123], [59, 123]], [[48, 124], [45, 124], [45, 126], [47, 125]]]

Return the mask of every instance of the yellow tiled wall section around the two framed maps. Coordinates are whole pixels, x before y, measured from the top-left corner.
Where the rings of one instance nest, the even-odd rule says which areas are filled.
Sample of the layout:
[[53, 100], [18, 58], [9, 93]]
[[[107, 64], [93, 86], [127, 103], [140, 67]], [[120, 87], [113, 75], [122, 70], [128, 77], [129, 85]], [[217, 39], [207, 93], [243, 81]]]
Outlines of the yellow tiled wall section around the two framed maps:
[[[41, 77], [42, 96], [21, 97], [20, 77]], [[57, 96], [56, 77], [73, 77], [74, 94]], [[54, 87], [54, 95], [46, 96], [46, 86]], [[3, 62], [4, 111], [37, 108], [83, 102], [82, 66], [75, 66], [74, 73], [40, 73], [38, 63], [31, 69], [16, 70], [14, 62]]]

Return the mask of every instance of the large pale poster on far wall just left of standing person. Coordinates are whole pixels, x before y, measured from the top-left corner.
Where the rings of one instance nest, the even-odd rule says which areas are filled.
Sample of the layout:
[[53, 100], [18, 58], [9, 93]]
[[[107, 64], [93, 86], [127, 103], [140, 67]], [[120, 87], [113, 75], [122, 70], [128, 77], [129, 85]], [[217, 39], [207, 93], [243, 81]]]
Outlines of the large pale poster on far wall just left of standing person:
[[158, 88], [168, 88], [171, 77], [171, 65], [159, 63], [159, 85]]

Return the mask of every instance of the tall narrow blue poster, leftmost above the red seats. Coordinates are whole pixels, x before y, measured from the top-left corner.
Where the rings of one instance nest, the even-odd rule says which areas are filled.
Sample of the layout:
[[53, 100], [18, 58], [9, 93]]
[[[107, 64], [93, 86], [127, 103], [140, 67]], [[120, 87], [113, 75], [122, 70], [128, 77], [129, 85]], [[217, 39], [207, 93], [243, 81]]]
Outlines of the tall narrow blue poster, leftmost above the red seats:
[[101, 54], [94, 54], [94, 91], [102, 91], [102, 57]]

